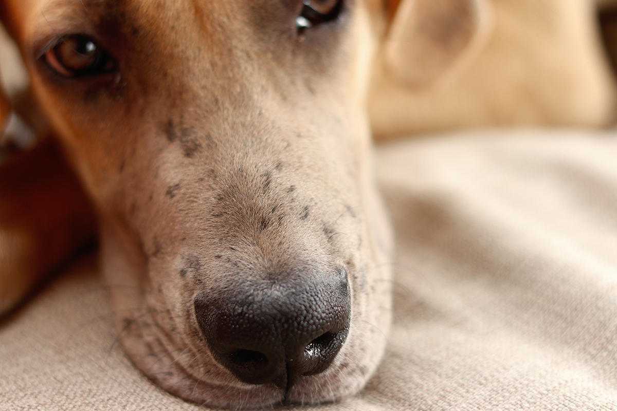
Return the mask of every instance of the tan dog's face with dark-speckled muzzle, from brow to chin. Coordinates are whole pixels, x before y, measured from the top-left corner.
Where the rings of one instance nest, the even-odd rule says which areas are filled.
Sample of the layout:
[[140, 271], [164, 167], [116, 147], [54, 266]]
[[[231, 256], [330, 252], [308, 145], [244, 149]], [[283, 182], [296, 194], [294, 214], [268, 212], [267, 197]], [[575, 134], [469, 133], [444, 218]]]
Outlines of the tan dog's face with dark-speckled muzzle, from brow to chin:
[[389, 324], [360, 0], [9, 0], [120, 340], [215, 407], [362, 388]]

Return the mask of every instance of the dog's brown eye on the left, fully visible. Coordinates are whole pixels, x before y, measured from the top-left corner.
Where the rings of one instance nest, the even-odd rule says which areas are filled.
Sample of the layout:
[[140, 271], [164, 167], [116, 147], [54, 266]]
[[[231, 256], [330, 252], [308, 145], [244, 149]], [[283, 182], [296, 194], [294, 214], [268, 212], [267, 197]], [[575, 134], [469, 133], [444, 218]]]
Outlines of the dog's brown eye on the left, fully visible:
[[71, 35], [60, 38], [44, 58], [62, 76], [78, 77], [114, 71], [114, 59], [88, 36]]

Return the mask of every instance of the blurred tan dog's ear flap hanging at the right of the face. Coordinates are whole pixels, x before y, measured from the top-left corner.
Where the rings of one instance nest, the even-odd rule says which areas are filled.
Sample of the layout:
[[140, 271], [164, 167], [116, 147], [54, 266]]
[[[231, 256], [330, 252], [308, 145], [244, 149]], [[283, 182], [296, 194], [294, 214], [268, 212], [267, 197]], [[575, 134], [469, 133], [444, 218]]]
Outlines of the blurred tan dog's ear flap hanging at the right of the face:
[[484, 47], [489, 0], [386, 0], [386, 70], [409, 87], [450, 83]]

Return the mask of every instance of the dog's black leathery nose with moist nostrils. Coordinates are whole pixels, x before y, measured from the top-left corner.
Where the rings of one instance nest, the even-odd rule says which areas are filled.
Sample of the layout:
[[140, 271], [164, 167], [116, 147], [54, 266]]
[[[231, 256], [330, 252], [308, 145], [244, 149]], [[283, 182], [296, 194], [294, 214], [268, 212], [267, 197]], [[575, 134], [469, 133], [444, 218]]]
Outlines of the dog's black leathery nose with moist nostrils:
[[241, 295], [227, 290], [228, 299], [195, 299], [210, 351], [240, 380], [289, 389], [300, 376], [325, 371], [341, 349], [351, 312], [346, 271], [303, 277], [239, 285]]

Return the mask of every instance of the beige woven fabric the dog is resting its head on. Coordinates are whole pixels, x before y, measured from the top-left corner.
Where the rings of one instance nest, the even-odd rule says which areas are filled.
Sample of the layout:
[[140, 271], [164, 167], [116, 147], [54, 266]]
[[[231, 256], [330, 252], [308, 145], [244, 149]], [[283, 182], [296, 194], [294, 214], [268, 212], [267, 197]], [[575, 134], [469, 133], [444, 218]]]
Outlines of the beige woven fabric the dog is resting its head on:
[[[389, 349], [360, 396], [315, 409], [616, 410], [617, 134], [410, 140], [378, 170]], [[93, 261], [0, 324], [0, 410], [197, 410], [128, 362]]]

